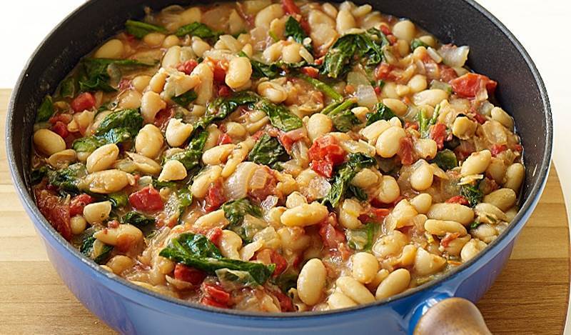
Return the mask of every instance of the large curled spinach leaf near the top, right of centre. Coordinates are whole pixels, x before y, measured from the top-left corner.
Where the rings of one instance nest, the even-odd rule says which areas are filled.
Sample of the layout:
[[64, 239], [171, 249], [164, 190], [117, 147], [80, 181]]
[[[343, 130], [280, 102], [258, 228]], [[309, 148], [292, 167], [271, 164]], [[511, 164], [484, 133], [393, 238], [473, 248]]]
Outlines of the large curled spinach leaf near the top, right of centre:
[[322, 74], [338, 78], [348, 71], [354, 56], [366, 59], [365, 65], [376, 65], [384, 59], [383, 47], [388, 39], [382, 31], [372, 28], [362, 34], [346, 34], [331, 46], [321, 68]]

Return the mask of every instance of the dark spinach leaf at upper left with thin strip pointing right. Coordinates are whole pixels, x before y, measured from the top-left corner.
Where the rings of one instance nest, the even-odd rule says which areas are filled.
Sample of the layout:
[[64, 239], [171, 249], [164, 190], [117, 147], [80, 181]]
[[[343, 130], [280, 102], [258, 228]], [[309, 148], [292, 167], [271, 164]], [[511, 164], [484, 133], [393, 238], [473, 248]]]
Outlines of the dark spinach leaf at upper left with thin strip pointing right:
[[[141, 66], [154, 66], [155, 63], [145, 63], [135, 59], [103, 59], [86, 58], [81, 61], [82, 71], [80, 72], [78, 84], [80, 91], [117, 91], [109, 84], [112, 69], [137, 69]], [[113, 67], [112, 67], [113, 66]], [[121, 76], [119, 73], [118, 76]]]

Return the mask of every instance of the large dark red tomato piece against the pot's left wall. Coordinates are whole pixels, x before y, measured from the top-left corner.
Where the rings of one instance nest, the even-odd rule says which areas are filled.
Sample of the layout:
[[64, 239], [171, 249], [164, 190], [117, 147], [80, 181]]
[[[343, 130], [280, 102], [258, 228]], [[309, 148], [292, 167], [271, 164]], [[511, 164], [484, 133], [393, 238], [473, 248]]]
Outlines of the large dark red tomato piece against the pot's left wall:
[[69, 241], [72, 236], [71, 224], [69, 223], [69, 205], [64, 204], [53, 191], [35, 189], [34, 193], [36, 194], [36, 204], [38, 204], [38, 209], [41, 214], [46, 216], [51, 226], [53, 226], [61, 236], [64, 236], [64, 239]]

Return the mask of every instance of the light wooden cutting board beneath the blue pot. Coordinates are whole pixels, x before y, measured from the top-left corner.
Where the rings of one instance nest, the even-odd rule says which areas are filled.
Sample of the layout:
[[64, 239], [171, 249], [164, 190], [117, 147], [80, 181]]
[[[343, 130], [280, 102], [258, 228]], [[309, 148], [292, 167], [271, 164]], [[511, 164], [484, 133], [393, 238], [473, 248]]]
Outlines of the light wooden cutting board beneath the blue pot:
[[[51, 267], [12, 186], [0, 90], [0, 334], [113, 334]], [[569, 230], [555, 169], [506, 268], [477, 306], [494, 334], [561, 334], [569, 296]]]

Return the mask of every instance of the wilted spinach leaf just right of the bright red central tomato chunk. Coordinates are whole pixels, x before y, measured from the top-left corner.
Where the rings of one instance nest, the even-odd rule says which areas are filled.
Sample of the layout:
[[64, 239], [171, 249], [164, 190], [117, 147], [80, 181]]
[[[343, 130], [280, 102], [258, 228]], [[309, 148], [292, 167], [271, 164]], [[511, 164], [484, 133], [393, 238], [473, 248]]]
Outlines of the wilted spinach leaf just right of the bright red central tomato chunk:
[[349, 154], [348, 161], [338, 166], [337, 171], [335, 171], [331, 189], [327, 196], [321, 200], [321, 203], [329, 203], [332, 207], [337, 207], [355, 174], [361, 169], [374, 166], [375, 164], [377, 164], [377, 161], [366, 154], [360, 152]]

